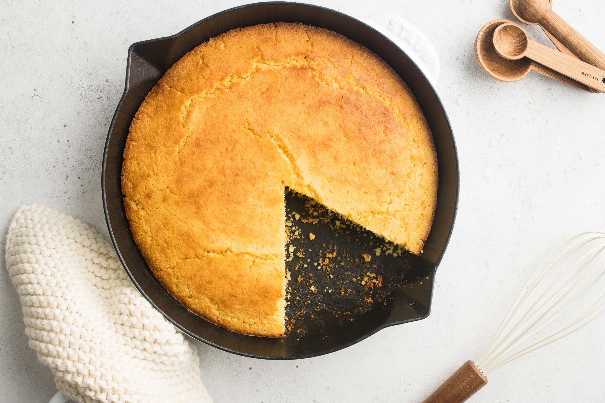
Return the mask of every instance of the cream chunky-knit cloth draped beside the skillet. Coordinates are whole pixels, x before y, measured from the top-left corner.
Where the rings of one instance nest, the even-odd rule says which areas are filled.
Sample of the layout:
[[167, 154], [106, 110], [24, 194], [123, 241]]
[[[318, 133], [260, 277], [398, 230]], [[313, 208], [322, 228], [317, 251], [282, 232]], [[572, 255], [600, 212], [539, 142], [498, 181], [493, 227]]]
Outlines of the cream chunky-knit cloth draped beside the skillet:
[[5, 259], [25, 334], [77, 402], [211, 402], [195, 348], [134, 288], [113, 248], [79, 220], [19, 208]]

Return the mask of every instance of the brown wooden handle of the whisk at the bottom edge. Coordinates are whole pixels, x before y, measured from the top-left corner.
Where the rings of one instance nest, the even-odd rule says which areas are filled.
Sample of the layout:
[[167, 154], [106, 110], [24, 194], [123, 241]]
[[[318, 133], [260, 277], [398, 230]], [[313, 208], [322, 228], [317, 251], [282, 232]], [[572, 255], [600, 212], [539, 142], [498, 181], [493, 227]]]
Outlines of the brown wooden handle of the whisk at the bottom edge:
[[488, 383], [473, 361], [466, 361], [423, 403], [462, 403]]

